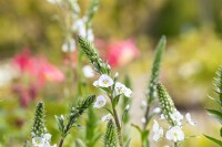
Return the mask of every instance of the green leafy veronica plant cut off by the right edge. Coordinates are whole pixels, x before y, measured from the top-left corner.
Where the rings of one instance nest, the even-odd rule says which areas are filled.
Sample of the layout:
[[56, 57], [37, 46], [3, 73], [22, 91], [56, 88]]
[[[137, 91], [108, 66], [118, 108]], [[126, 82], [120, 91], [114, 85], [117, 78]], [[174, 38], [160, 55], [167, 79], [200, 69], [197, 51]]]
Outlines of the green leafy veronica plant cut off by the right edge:
[[[213, 99], [216, 104], [219, 104], [219, 109], [206, 108], [206, 111], [209, 115], [213, 116], [222, 124], [222, 66], [220, 66], [216, 72], [216, 77], [214, 78], [214, 85], [215, 85], [214, 91], [218, 94], [218, 97], [215, 98], [212, 96], [209, 97]], [[220, 128], [220, 136], [222, 137], [222, 127]], [[216, 139], [208, 135], [205, 135], [205, 137], [222, 147], [222, 138]]]

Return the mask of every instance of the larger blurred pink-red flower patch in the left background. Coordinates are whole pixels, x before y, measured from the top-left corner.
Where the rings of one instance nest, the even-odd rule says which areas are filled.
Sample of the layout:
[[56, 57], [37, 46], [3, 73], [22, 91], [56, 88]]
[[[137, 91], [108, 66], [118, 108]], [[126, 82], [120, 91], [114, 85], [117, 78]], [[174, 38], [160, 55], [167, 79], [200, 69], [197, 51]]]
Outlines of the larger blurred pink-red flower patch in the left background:
[[12, 62], [20, 72], [27, 72], [30, 76], [34, 76], [40, 84], [44, 84], [47, 81], [64, 81], [63, 73], [57, 66], [49, 63], [44, 57], [31, 56], [29, 50], [16, 55]]

